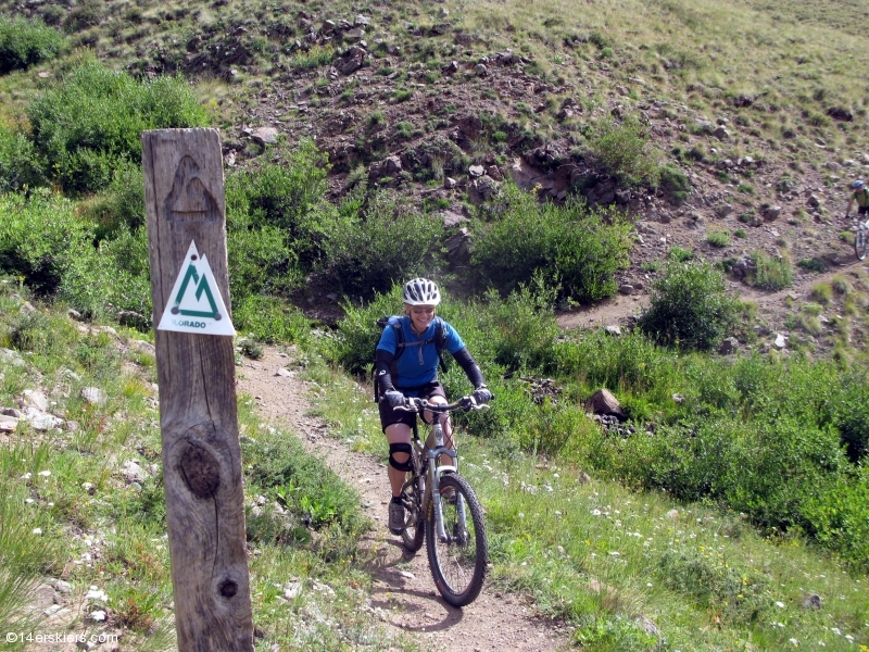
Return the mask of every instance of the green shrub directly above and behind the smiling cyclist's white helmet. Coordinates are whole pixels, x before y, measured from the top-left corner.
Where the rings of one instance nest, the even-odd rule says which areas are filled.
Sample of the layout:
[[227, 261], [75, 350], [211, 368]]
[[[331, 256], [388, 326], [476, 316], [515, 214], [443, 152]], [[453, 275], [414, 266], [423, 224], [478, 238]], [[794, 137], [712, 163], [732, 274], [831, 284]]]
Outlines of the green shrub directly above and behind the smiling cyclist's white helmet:
[[318, 268], [344, 294], [370, 299], [400, 280], [431, 275], [441, 233], [434, 221], [383, 191], [364, 212], [336, 223]]

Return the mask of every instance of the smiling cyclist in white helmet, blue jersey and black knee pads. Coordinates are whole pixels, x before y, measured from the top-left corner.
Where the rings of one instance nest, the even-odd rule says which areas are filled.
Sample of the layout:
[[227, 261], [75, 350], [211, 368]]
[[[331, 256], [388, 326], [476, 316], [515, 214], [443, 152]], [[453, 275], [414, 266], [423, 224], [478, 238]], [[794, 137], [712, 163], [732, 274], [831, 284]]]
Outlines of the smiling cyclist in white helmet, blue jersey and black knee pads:
[[[439, 355], [434, 343], [437, 321], [440, 321], [445, 336], [444, 348], [467, 374], [474, 385], [474, 400], [487, 403], [492, 393], [487, 389], [477, 362], [468, 353], [465, 342], [446, 322], [434, 316], [441, 294], [438, 286], [426, 278], [414, 278], [404, 285], [402, 292], [404, 315], [399, 318], [403, 336], [403, 354], [399, 352], [399, 341], [393, 328], [383, 328], [375, 354], [375, 377], [379, 384], [380, 425], [389, 442], [389, 484], [392, 487], [392, 501], [389, 504], [389, 529], [400, 535], [404, 529], [405, 510], [401, 502], [401, 489], [411, 464], [411, 434], [416, 414], [396, 410], [405, 404], [405, 394], [418, 397], [432, 403], [446, 403], [443, 386], [438, 380]], [[425, 412], [423, 419], [431, 424], [432, 414]], [[442, 415], [443, 442], [446, 448], [455, 448], [449, 415]]]

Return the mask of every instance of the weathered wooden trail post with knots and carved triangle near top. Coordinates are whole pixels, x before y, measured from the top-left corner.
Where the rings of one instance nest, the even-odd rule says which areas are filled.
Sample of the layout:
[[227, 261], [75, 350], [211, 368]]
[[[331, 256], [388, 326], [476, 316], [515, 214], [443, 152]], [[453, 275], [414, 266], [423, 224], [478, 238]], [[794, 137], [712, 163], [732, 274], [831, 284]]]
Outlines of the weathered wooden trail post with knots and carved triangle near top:
[[[142, 167], [154, 324], [191, 241], [207, 256], [228, 309], [217, 130], [144, 131]], [[249, 652], [253, 617], [232, 338], [156, 330], [155, 343], [178, 649]]]

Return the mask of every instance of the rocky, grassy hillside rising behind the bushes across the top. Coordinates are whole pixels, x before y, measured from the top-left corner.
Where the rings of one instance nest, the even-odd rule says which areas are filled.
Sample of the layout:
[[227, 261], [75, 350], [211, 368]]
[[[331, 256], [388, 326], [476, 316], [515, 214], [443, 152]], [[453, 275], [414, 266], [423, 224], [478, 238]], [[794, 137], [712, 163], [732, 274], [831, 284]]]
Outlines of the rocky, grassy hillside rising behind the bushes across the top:
[[[222, 126], [228, 167], [279, 138], [314, 139], [333, 200], [360, 185], [415, 197], [443, 220], [453, 263], [467, 255], [475, 205], [508, 179], [541, 200], [579, 195], [627, 212], [637, 246], [618, 279], [626, 294], [644, 293], [673, 248], [720, 263], [750, 294], [758, 252], [792, 271], [784, 287], [810, 289], [855, 262], [842, 214], [869, 154], [847, 71], [867, 46], [820, 5], [0, 8], [41, 16], [118, 68], [188, 77]], [[10, 75], [9, 111], [64, 65]], [[605, 125], [630, 126], [633, 140], [595, 149]], [[627, 156], [647, 165], [626, 172]]]

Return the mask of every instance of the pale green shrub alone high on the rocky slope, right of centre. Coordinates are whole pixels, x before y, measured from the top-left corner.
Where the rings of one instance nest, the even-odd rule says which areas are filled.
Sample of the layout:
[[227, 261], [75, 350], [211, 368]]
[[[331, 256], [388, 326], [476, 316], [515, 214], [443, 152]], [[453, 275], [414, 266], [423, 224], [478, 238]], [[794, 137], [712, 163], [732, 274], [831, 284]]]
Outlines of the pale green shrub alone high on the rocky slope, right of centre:
[[650, 146], [647, 127], [635, 117], [621, 123], [599, 121], [592, 126], [588, 148], [592, 162], [620, 183], [657, 185], [659, 155]]

